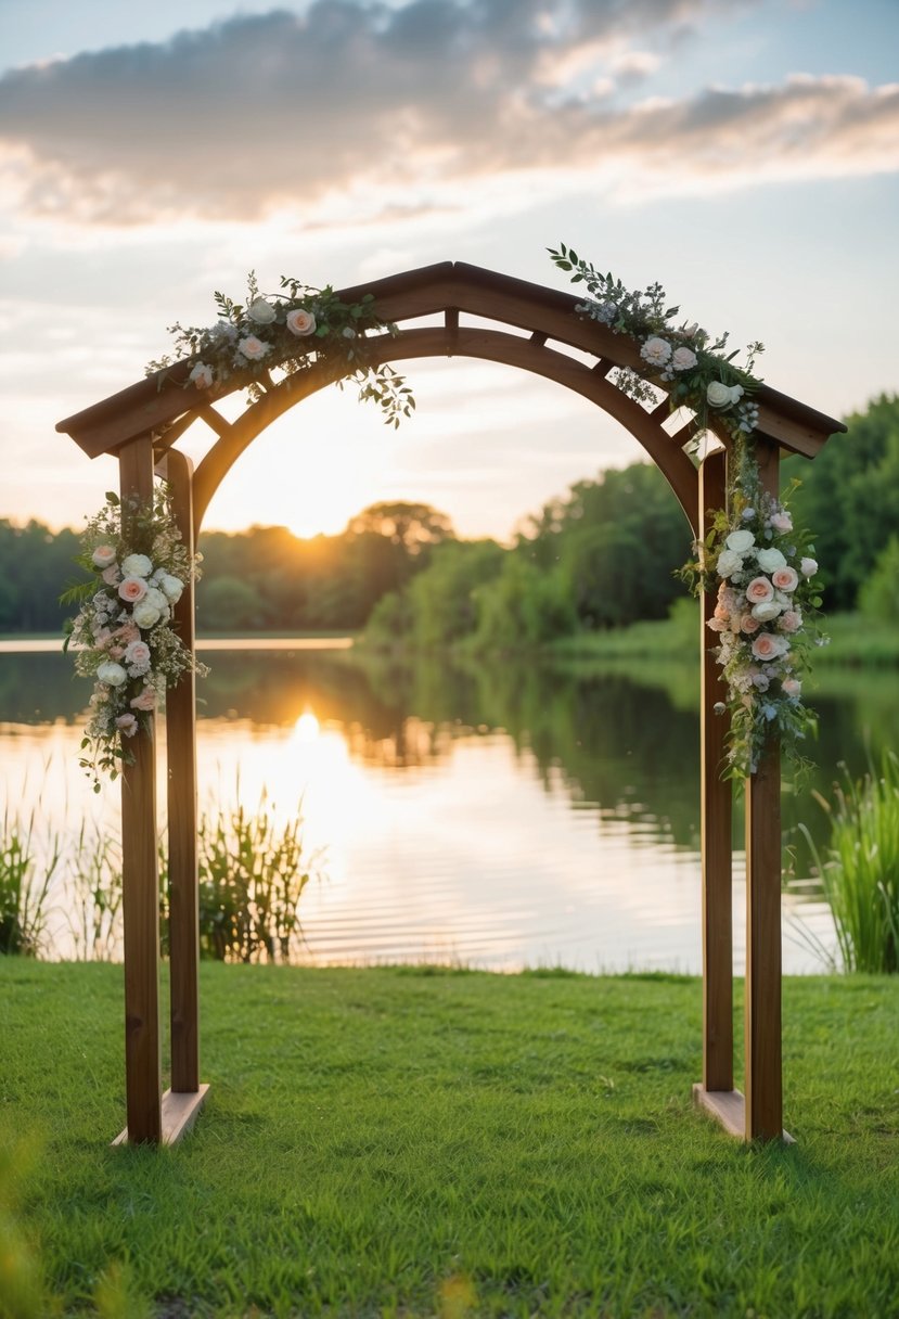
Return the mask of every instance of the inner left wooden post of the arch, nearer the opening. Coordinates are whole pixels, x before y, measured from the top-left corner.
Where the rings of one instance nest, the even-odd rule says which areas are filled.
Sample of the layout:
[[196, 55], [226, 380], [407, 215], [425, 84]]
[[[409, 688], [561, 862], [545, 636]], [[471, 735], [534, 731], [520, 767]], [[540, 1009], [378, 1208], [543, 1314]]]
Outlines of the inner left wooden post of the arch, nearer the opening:
[[[173, 510], [194, 553], [192, 464], [171, 450], [166, 459]], [[194, 649], [194, 586], [174, 608], [181, 640]], [[166, 692], [169, 748], [169, 958], [171, 977], [171, 1089], [195, 1092], [199, 1076], [199, 910], [196, 876], [196, 692], [192, 673]]]

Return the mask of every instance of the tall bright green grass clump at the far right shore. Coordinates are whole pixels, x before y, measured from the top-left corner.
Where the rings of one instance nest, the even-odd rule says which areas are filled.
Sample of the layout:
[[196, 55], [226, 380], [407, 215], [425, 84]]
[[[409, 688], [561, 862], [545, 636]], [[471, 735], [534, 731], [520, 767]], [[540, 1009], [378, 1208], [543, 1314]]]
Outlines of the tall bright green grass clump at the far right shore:
[[833, 911], [846, 971], [899, 971], [899, 757], [886, 752], [881, 774], [845, 774], [834, 803], [815, 794], [830, 815], [821, 859], [800, 826]]

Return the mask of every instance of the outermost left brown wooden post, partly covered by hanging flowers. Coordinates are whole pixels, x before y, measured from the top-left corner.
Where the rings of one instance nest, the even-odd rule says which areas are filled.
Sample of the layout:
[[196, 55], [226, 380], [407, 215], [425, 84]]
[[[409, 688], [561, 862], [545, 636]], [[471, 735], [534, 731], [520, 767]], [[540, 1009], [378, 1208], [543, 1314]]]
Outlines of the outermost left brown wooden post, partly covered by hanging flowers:
[[[153, 499], [153, 445], [141, 435], [119, 455], [123, 522], [127, 501]], [[128, 1141], [162, 1138], [160, 1051], [160, 876], [156, 836], [156, 728], [132, 739], [121, 778], [121, 880], [125, 956], [125, 1092]]]

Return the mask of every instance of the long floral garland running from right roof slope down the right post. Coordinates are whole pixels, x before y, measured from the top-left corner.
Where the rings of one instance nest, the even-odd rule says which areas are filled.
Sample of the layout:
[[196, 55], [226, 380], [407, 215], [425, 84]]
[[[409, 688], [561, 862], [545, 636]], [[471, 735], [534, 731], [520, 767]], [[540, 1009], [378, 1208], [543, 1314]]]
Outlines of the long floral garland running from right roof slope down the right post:
[[815, 549], [794, 529], [786, 503], [759, 481], [753, 396], [761, 380], [753, 372], [763, 344], [751, 343], [740, 367], [738, 351], [725, 353], [726, 334], [713, 339], [699, 324], [674, 323], [680, 309], [666, 305], [662, 285], [631, 293], [564, 243], [550, 248], [550, 256], [587, 289], [589, 297], [576, 311], [638, 346], [645, 367], [639, 373], [620, 368], [618, 388], [638, 402], [656, 402], [659, 386], [672, 410], [693, 412], [697, 434], [710, 427], [730, 439], [728, 508], [680, 576], [696, 595], [717, 591], [708, 627], [718, 637], [713, 653], [728, 686], [728, 700], [716, 706], [718, 714], [730, 712], [726, 773], [755, 773], [772, 733], [801, 769], [799, 744], [816, 727], [801, 703], [803, 679], [812, 645], [824, 645], [826, 637], [816, 624], [821, 598]]

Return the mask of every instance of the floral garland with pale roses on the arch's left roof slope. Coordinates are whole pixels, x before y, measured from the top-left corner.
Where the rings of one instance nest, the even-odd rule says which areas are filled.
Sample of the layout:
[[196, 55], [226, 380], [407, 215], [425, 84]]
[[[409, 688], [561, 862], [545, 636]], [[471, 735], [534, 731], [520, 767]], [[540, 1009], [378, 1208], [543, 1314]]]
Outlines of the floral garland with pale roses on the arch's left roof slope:
[[[398, 426], [415, 408], [413, 392], [403, 376], [388, 364], [372, 365], [366, 336], [370, 331], [395, 334], [397, 327], [374, 313], [374, 298], [366, 293], [360, 302], [343, 302], [331, 288], [314, 289], [298, 280], [281, 277], [281, 293], [260, 293], [254, 272], [246, 281], [246, 302], [233, 302], [215, 294], [219, 321], [210, 327], [175, 323], [178, 360], [190, 367], [185, 385], [214, 392], [228, 381], [248, 390], [250, 401], [261, 398], [281, 379], [308, 371], [315, 363], [334, 361], [341, 380], [359, 385], [362, 402], [377, 404], [388, 425]], [[169, 356], [150, 361], [146, 372], [160, 372], [160, 383], [174, 361]]]

